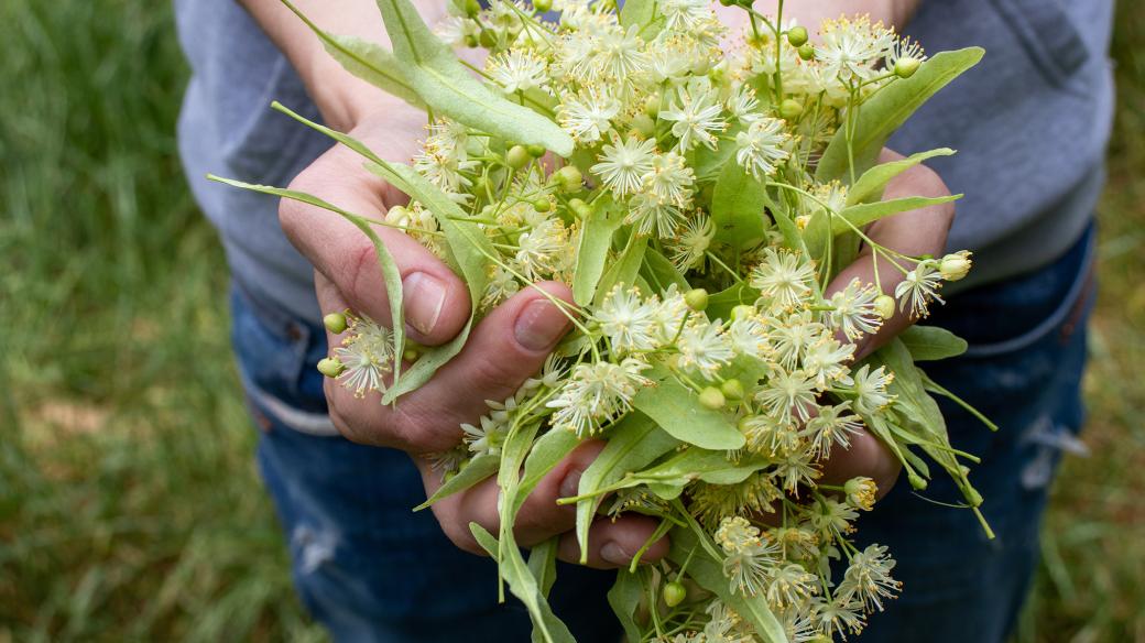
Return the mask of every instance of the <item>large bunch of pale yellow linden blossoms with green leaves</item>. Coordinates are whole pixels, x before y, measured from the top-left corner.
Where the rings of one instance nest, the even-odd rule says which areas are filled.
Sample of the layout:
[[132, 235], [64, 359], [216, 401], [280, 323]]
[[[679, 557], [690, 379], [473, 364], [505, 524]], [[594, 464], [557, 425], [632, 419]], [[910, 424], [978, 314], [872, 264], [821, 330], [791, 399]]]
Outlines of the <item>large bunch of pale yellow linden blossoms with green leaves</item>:
[[[349, 71], [426, 110], [410, 165], [276, 106], [361, 152], [409, 205], [368, 221], [309, 195], [230, 182], [331, 209], [378, 247], [393, 317], [329, 315], [342, 339], [323, 373], [401, 404], [466, 341], [468, 327], [433, 349], [405, 341], [401, 283], [371, 225], [402, 230], [448, 262], [469, 287], [474, 320], [537, 280], [570, 284], [575, 304], [553, 301], [575, 331], [437, 455], [447, 482], [427, 501], [498, 476], [499, 533], [474, 526], [475, 537], [528, 608], [535, 640], [571, 636], [545, 600], [555, 542], [526, 561], [514, 516], [586, 438], [607, 446], [562, 500], [576, 503], [582, 545], [598, 514], [661, 518], [649, 545], [671, 535], [665, 561], [638, 566], [638, 554], [609, 595], [629, 641], [859, 633], [900, 585], [885, 547], [852, 542], [875, 483], [819, 484], [822, 460], [866, 429], [914, 489], [937, 465], [971, 510], [982, 500], [963, 465], [976, 459], [950, 446], [929, 395], [950, 394], [914, 364], [964, 342], [915, 327], [859, 363], [852, 343], [897, 309], [926, 315], [942, 283], [970, 268], [969, 253], [905, 256], [863, 230], [947, 200], [882, 193], [951, 150], [876, 159], [981, 50], [927, 59], [866, 17], [828, 21], [812, 41], [783, 22], [782, 2], [775, 17], [740, 6], [743, 33], [729, 33], [705, 0], [629, 0], [623, 10], [464, 0], [436, 33], [409, 0], [379, 8], [393, 51], [314, 29]], [[483, 48], [483, 68], [451, 46]], [[884, 292], [876, 269], [874, 284], [824, 295], [860, 244], [905, 279]]]

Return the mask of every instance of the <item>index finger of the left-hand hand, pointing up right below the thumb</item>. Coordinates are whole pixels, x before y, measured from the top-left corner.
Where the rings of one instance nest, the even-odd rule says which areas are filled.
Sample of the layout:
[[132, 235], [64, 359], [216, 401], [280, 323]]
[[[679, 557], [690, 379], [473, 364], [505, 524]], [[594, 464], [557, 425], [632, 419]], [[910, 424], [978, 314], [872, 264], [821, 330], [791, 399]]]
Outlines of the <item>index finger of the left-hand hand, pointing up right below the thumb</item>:
[[459, 426], [489, 411], [485, 400], [506, 399], [540, 371], [571, 326], [553, 300], [571, 302], [572, 293], [556, 281], [524, 288], [482, 319], [429, 382], [398, 400], [397, 412], [433, 434], [424, 436], [426, 444], [456, 444]]

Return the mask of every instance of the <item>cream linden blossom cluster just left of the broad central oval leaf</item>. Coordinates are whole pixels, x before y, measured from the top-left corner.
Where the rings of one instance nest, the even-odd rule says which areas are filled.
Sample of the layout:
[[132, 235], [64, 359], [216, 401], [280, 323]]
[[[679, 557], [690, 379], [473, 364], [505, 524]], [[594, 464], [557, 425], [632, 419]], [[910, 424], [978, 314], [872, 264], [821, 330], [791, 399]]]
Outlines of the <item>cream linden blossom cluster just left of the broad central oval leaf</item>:
[[555, 408], [553, 426], [576, 431], [581, 437], [593, 435], [603, 422], [632, 408], [632, 398], [652, 380], [640, 374], [648, 364], [625, 358], [619, 364], [597, 362], [579, 364], [560, 394], [546, 406]]

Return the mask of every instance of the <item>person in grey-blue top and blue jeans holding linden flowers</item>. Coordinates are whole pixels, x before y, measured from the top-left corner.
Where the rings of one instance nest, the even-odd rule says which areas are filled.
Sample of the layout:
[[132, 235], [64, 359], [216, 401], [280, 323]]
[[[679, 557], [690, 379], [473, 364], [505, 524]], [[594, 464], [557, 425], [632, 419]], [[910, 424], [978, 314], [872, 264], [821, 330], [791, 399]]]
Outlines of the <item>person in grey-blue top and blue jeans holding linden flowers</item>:
[[[295, 3], [331, 32], [385, 42], [373, 2]], [[419, 10], [433, 22], [444, 5], [426, 0]], [[772, 9], [766, 5], [757, 8]], [[347, 74], [278, 0], [176, 0], [175, 7], [192, 68], [180, 152], [227, 251], [234, 343], [262, 429], [258, 460], [303, 604], [340, 641], [526, 641], [523, 609], [497, 604], [496, 565], [466, 551], [475, 550], [471, 521], [496, 524], [492, 483], [437, 503], [432, 514], [410, 509], [440, 484], [423, 455], [455, 444], [459, 423], [482, 414], [485, 399], [503, 399], [534, 374], [566, 319], [539, 293], [522, 291], [393, 408], [324, 383], [315, 370], [329, 341], [322, 311], [350, 307], [388, 318], [371, 246], [337, 217], [204, 176], [290, 183], [380, 215], [400, 198], [390, 186], [345, 148], [267, 105], [278, 100], [395, 160], [413, 152], [425, 117]], [[957, 497], [941, 475], [922, 494], [894, 486], [862, 518], [859, 538], [890, 546], [905, 589], [859, 640], [1003, 641], [1036, 565], [1058, 454], [1082, 424], [1092, 212], [1112, 114], [1112, 0], [804, 0], [787, 10], [802, 24], [870, 13], [931, 50], [987, 50], [890, 143], [902, 153], [960, 150], [890, 189], [965, 192], [953, 227], [953, 209], [940, 206], [885, 220], [879, 233], [915, 254], [939, 254], [943, 246], [976, 253], [971, 277], [948, 291], [946, 307], [926, 322], [958, 333], [970, 349], [926, 370], [1001, 427], [992, 434], [943, 403], [955, 446], [982, 458], [972, 476], [997, 538], [987, 540], [970, 511], [942, 505]], [[468, 315], [463, 284], [414, 241], [380, 232], [402, 272], [410, 336], [424, 344], [449, 340]], [[568, 295], [561, 284], [542, 287]], [[897, 319], [886, 333], [907, 322]], [[561, 558], [577, 557], [567, 533], [571, 514], [554, 500], [572, 494], [599, 448], [583, 445], [538, 485], [519, 521], [520, 542], [563, 534]], [[884, 489], [898, 474], [869, 436], [828, 469], [870, 475]], [[618, 638], [605, 600], [613, 574], [601, 570], [627, 564], [653, 529], [641, 516], [597, 523], [589, 566], [561, 566], [552, 602], [579, 641]], [[646, 558], [665, 548], [661, 541]]]

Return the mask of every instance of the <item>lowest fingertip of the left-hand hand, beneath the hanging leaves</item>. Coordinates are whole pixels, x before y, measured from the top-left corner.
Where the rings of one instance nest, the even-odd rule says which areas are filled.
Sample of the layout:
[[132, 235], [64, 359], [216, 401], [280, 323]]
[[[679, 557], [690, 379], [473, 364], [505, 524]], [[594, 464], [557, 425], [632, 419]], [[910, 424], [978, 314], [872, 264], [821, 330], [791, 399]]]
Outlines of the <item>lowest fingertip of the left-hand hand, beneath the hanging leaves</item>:
[[[615, 521], [598, 518], [589, 529], [589, 559], [585, 563], [598, 570], [623, 567], [653, 537], [660, 521], [639, 514], [625, 514]], [[655, 563], [668, 555], [668, 537], [663, 537], [640, 556], [641, 563]], [[581, 563], [581, 545], [575, 533], [561, 535], [556, 557], [568, 563]]]

